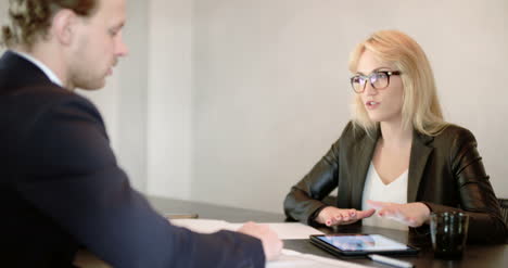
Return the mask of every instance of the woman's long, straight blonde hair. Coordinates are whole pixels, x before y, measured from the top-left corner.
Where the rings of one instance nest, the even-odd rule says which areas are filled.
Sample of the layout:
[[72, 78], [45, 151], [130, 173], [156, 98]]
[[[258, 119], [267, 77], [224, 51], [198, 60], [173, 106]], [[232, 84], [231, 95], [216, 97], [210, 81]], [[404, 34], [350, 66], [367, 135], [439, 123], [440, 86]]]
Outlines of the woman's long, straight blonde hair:
[[[441, 112], [434, 75], [421, 47], [409, 36], [398, 30], [380, 30], [358, 43], [350, 56], [350, 71], [357, 72], [364, 51], [372, 52], [378, 60], [393, 64], [401, 71], [404, 86], [403, 127], [412, 127], [420, 133], [436, 136], [447, 126]], [[353, 102], [353, 124], [368, 133], [377, 131], [360, 95]]]

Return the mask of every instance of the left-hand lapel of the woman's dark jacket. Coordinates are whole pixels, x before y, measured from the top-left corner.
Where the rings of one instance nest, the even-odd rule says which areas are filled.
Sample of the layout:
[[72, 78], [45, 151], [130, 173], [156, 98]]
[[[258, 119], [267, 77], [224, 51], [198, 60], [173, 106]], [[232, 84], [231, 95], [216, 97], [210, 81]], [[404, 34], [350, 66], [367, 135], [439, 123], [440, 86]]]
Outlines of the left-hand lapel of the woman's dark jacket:
[[380, 131], [377, 131], [374, 136], [369, 137], [365, 135], [363, 140], [358, 142], [358, 150], [353, 152], [353, 159], [356, 165], [352, 168], [352, 206], [356, 209], [361, 209], [361, 197], [364, 195], [365, 180], [369, 165], [372, 159], [372, 154], [376, 149], [376, 143], [380, 137]]

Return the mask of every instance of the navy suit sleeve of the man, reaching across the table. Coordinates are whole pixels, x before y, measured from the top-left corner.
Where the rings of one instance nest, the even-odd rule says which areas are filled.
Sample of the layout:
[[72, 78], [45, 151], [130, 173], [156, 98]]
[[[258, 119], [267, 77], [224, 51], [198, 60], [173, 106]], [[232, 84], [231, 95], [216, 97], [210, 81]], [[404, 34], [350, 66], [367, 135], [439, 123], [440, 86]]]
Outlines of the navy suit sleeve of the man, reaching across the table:
[[99, 112], [66, 98], [31, 124], [16, 190], [76, 241], [114, 267], [264, 267], [261, 241], [172, 226], [117, 166]]

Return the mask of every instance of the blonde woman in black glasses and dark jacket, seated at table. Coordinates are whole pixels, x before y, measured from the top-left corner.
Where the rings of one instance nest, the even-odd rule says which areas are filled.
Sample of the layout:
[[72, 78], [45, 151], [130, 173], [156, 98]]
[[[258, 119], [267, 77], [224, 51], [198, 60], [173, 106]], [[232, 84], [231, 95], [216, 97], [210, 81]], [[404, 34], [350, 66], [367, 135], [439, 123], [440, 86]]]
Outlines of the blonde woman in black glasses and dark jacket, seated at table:
[[[443, 119], [420, 46], [374, 33], [350, 60], [353, 118], [284, 201], [305, 224], [428, 228], [431, 212], [470, 215], [469, 239], [503, 241], [506, 227], [474, 136]], [[335, 206], [322, 200], [338, 188]], [[424, 231], [424, 230], [422, 230]]]

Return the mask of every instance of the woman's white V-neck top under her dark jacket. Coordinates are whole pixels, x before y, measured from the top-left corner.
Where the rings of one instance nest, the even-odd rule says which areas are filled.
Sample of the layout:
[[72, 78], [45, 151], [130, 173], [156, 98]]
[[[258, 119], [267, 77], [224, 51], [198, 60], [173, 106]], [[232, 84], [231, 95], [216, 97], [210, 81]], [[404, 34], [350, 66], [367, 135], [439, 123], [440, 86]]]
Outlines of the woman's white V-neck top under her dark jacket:
[[[391, 202], [391, 203], [407, 203], [407, 175], [408, 170], [403, 173], [398, 178], [389, 184], [384, 184], [381, 178], [376, 171], [376, 167], [370, 162], [369, 171], [365, 180], [364, 196], [361, 199], [361, 209], [368, 209], [370, 206], [367, 204], [367, 200]], [[408, 227], [404, 224], [392, 219], [385, 219], [374, 214], [369, 218], [363, 220], [366, 226], [377, 226], [382, 228], [408, 230]]]

